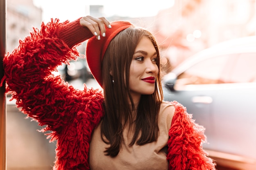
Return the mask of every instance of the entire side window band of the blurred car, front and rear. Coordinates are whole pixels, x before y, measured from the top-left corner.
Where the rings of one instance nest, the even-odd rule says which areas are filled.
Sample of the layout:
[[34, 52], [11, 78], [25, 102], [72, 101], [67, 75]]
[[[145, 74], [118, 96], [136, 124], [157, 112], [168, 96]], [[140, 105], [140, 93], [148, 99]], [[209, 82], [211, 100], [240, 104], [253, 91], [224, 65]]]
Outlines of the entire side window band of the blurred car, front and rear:
[[175, 86], [256, 82], [256, 53], [212, 57], [178, 75]]

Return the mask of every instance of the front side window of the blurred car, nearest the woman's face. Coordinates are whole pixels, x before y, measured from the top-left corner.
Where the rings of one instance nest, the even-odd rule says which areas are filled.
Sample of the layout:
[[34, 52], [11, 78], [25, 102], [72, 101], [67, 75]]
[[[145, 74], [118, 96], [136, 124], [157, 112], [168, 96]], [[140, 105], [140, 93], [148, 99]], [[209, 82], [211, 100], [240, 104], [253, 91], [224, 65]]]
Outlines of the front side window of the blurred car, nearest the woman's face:
[[234, 65], [235, 57], [234, 55], [223, 55], [198, 62], [178, 75], [175, 86], [223, 83], [221, 75], [223, 72], [229, 73], [232, 65]]

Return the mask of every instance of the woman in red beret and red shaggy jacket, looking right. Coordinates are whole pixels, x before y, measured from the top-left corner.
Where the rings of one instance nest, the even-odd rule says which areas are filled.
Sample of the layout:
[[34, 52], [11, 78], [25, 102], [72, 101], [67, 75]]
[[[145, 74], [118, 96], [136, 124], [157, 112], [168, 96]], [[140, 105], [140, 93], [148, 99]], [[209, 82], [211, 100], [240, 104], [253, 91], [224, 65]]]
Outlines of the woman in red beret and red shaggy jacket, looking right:
[[[62, 62], [86, 57], [102, 86], [83, 91], [54, 77]], [[162, 101], [159, 49], [130, 22], [83, 17], [34, 29], [4, 57], [7, 92], [57, 140], [54, 170], [214, 170], [204, 128], [186, 108]]]

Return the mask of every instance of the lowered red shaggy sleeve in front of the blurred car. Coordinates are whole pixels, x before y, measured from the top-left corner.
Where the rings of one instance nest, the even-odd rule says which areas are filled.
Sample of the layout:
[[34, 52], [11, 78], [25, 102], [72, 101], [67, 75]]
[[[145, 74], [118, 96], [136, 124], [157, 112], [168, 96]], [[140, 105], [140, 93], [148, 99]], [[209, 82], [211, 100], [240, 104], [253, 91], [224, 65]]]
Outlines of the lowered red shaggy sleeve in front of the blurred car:
[[171, 104], [175, 113], [169, 130], [169, 170], [215, 170], [216, 164], [202, 148], [206, 142], [204, 127], [195, 123], [184, 106], [175, 101]]

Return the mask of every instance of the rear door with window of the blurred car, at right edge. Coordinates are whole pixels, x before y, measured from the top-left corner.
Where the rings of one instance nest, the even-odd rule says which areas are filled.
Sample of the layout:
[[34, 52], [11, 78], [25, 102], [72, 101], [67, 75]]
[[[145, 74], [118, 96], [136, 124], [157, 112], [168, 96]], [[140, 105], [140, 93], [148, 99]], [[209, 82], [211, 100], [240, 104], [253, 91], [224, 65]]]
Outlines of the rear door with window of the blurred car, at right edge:
[[256, 53], [232, 57], [213, 102], [214, 148], [256, 160]]

